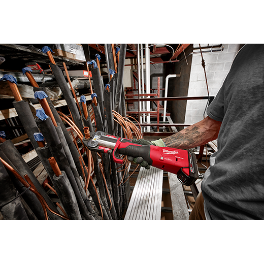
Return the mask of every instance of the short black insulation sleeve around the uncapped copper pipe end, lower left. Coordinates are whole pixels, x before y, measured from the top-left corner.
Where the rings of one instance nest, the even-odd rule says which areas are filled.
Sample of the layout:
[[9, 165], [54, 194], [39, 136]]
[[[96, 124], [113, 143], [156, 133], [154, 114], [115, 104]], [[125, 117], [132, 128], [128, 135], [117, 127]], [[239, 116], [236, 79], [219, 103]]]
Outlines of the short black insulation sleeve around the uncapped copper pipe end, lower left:
[[71, 220], [82, 220], [78, 203], [65, 172], [61, 171], [58, 177], [53, 176], [54, 188], [59, 196], [61, 204]]

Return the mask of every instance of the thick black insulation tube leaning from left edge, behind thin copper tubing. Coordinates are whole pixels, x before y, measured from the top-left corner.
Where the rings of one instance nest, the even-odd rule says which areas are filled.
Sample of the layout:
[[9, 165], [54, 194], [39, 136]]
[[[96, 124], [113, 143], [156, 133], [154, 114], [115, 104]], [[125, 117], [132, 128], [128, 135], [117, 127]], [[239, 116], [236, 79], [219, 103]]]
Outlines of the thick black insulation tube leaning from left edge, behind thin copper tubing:
[[[22, 177], [27, 174], [27, 176], [30, 178], [30, 180], [32, 181], [32, 183], [36, 187], [37, 191], [45, 199], [45, 201], [48, 204], [48, 206], [53, 211], [55, 211], [56, 213], [58, 213], [58, 210], [55, 207], [55, 205], [53, 204], [53, 202], [51, 201], [50, 197], [48, 196], [48, 194], [46, 193], [46, 191], [44, 190], [44, 188], [41, 186], [41, 184], [37, 180], [36, 176], [32, 173], [32, 171], [30, 170], [30, 168], [28, 167], [27, 163], [22, 158], [22, 156], [20, 155], [20, 153], [18, 152], [18, 150], [16, 149], [16, 147], [14, 146], [14, 144], [12, 143], [12, 141], [11, 140], [5, 141], [4, 143], [0, 144], [0, 148], [6, 154], [6, 156], [10, 159], [10, 161], [13, 164], [16, 164], [15, 167], [16, 167], [16, 170], [18, 171], [18, 173]], [[57, 220], [61, 220], [62, 219], [61, 217], [59, 217], [59, 216], [51, 213], [50, 211], [48, 211], [48, 214], [49, 214], [49, 216], [52, 219], [57, 219]], [[35, 213], [35, 215], [38, 217], [38, 219], [40, 219], [39, 216], [36, 213]]]

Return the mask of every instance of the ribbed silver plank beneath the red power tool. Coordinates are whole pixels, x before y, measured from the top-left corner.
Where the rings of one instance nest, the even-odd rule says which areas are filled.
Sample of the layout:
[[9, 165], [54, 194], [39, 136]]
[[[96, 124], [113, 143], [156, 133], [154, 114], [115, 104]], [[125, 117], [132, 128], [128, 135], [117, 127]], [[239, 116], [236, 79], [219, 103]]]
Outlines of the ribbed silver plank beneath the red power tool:
[[125, 220], [160, 220], [163, 171], [140, 169]]

